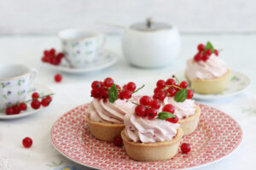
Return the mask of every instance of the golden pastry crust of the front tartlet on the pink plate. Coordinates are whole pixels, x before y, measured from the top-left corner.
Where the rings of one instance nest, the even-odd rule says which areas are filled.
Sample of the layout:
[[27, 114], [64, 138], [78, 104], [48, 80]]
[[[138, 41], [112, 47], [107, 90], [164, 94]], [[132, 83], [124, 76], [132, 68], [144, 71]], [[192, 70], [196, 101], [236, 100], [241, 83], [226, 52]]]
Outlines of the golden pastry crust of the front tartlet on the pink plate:
[[128, 156], [136, 161], [164, 161], [169, 160], [177, 154], [180, 141], [183, 137], [183, 129], [177, 129], [174, 139], [156, 143], [135, 143], [125, 135], [125, 129], [121, 133]]

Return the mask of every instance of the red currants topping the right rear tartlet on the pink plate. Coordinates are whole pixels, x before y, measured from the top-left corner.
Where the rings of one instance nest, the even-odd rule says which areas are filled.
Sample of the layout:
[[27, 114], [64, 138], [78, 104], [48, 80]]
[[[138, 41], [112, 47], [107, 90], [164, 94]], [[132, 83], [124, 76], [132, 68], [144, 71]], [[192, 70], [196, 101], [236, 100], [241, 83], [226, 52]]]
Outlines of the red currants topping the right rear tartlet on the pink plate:
[[[154, 99], [159, 99], [160, 101], [163, 101], [166, 99], [166, 97], [173, 97], [177, 94], [178, 91], [182, 89], [188, 88], [188, 82], [176, 82], [175, 79], [169, 78], [166, 81], [159, 80], [156, 82], [156, 88], [154, 88]], [[192, 99], [193, 97], [193, 91], [190, 89], [187, 89], [188, 95], [187, 99]]]

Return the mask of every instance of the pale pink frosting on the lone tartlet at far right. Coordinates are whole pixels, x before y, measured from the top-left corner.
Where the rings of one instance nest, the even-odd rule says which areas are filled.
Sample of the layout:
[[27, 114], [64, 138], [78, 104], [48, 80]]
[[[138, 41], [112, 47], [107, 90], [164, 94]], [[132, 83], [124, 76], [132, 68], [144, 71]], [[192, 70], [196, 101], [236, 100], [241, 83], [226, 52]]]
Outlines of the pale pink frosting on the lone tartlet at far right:
[[189, 59], [187, 61], [186, 76], [189, 81], [199, 78], [201, 80], [209, 80], [217, 77], [222, 77], [228, 71], [224, 60], [219, 59], [215, 54], [212, 54], [207, 61], [195, 61]]

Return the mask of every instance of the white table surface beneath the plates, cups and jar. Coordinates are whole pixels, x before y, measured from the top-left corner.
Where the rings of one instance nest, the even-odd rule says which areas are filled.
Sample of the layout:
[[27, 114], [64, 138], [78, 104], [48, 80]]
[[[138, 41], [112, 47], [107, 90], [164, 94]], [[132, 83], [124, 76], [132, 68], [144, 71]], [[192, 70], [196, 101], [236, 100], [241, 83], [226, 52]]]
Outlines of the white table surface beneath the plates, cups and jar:
[[[88, 169], [79, 167], [72, 161], [68, 161], [54, 150], [50, 143], [50, 128], [55, 120], [65, 112], [77, 105], [90, 101], [90, 82], [102, 80], [104, 77], [113, 77], [116, 82], [135, 81], [137, 84], [150, 84], [160, 78], [172, 75], [185, 67], [186, 59], [196, 52], [199, 42], [211, 41], [216, 48], [224, 49], [219, 57], [224, 59], [229, 67], [241, 71], [255, 80], [256, 58], [255, 44], [256, 34], [203, 34], [182, 35], [182, 50], [175, 64], [161, 69], [140, 69], [129, 65], [121, 54], [120, 38], [118, 35], [108, 37], [106, 48], [113, 49], [119, 54], [120, 59], [116, 65], [93, 73], [84, 75], [62, 74], [61, 83], [55, 83], [54, 76], [58, 73], [41, 63], [41, 56], [45, 48], [60, 49], [60, 41], [53, 36], [22, 36], [0, 37], [0, 63], [20, 63], [36, 67], [39, 71], [38, 83], [44, 84], [55, 92], [55, 99], [47, 111], [13, 121], [0, 120], [0, 166], [1, 156], [7, 156], [12, 169], [63, 169], [65, 166], [73, 166], [70, 169]], [[150, 87], [150, 85], [148, 86]], [[144, 92], [149, 92], [146, 88]], [[256, 166], [256, 87], [251, 86], [245, 94], [237, 95], [231, 99], [214, 102], [205, 102], [207, 105], [218, 107], [222, 111], [233, 116], [241, 124], [244, 138], [234, 154], [221, 161], [207, 166], [207, 169], [253, 169]], [[234, 104], [234, 108], [233, 108]], [[241, 108], [236, 108], [241, 104]], [[247, 105], [247, 107], [242, 107]], [[241, 110], [251, 107], [251, 110]], [[235, 109], [235, 110], [234, 110]], [[231, 112], [230, 112], [231, 111]], [[234, 111], [234, 113], [232, 113]], [[24, 150], [21, 140], [31, 136], [34, 144], [31, 149]], [[49, 153], [50, 152], [50, 153]], [[2, 155], [1, 155], [2, 154]], [[20, 161], [19, 161], [20, 160]], [[254, 160], [254, 161], [253, 161]], [[49, 167], [46, 164], [62, 162], [60, 166]], [[2, 162], [3, 163], [3, 162]], [[9, 168], [11, 169], [11, 168]], [[204, 169], [204, 167], [198, 168]]]

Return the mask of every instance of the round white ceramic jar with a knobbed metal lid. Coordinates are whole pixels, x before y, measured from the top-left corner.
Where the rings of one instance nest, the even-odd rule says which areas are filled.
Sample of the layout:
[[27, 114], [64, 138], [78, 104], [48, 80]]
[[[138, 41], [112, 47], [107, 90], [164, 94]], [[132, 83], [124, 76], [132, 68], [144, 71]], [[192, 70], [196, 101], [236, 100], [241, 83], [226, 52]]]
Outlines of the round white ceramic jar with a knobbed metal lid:
[[125, 58], [131, 63], [145, 68], [170, 64], [180, 48], [177, 28], [165, 23], [148, 20], [125, 28], [122, 48]]

